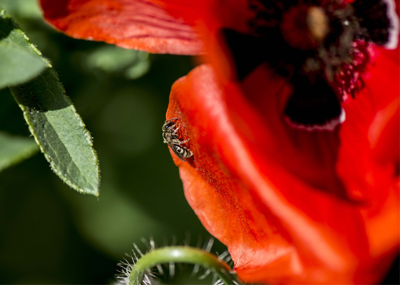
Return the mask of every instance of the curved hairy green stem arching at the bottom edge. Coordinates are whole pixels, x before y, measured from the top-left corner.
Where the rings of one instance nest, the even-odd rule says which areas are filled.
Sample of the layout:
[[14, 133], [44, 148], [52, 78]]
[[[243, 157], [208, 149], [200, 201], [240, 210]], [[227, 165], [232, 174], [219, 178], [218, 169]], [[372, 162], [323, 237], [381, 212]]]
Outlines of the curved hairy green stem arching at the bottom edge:
[[230, 273], [229, 265], [210, 252], [190, 246], [167, 246], [151, 250], [136, 262], [130, 272], [129, 285], [140, 284], [147, 270], [162, 263], [202, 265], [218, 274], [224, 284], [240, 284], [236, 276]]

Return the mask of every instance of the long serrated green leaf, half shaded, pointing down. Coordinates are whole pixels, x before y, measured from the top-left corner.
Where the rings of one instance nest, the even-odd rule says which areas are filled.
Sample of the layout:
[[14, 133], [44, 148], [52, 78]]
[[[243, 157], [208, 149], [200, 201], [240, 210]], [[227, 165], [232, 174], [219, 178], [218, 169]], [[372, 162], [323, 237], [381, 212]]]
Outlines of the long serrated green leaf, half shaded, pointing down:
[[[0, 47], [42, 55], [22, 30], [0, 11]], [[11, 87], [29, 131], [52, 170], [76, 191], [98, 196], [100, 175], [92, 138], [48, 60], [47, 69], [28, 83]]]

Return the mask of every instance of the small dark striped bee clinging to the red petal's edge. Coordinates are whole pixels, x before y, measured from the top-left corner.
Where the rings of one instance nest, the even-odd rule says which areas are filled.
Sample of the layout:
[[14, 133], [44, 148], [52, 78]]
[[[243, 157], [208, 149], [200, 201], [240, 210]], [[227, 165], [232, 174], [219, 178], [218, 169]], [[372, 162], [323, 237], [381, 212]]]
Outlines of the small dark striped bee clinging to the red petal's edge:
[[[180, 125], [175, 123], [173, 120], [178, 118], [172, 118], [168, 121], [165, 121], [164, 125], [162, 126], [162, 138], [164, 139], [164, 143], [168, 144], [169, 147], [174, 151], [176, 156], [183, 161], [186, 162], [185, 157], [193, 156], [193, 152], [187, 149], [184, 146], [180, 146], [181, 144], [187, 143], [189, 140], [180, 141], [178, 139], [178, 130]], [[175, 128], [178, 125], [178, 128]]]

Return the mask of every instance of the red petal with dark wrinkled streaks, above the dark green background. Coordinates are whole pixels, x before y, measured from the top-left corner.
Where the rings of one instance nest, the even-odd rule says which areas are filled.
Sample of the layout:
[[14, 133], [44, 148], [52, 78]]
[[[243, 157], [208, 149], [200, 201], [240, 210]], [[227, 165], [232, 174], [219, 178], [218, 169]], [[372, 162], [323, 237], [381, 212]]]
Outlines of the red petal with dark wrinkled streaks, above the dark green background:
[[151, 0], [41, 0], [41, 4], [45, 18], [74, 38], [152, 53], [203, 51], [192, 26]]

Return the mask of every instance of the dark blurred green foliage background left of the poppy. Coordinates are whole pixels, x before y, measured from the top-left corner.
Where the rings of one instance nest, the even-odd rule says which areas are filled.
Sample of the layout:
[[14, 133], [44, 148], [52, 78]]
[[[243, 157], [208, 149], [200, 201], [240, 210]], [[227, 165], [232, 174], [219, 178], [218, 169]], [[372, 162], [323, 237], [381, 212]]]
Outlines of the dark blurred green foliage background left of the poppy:
[[[0, 0], [0, 7], [57, 71], [102, 171], [98, 199], [63, 184], [40, 153], [0, 172], [0, 283], [110, 283], [142, 237], [171, 244], [175, 235], [181, 243], [189, 232], [192, 245], [198, 236], [207, 240], [161, 138], [171, 85], [193, 68], [192, 59], [71, 39], [43, 22], [36, 0]], [[0, 130], [28, 137], [10, 90], [0, 98]], [[223, 250], [217, 243], [213, 251]], [[170, 282], [211, 282], [184, 268]]]

